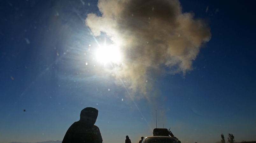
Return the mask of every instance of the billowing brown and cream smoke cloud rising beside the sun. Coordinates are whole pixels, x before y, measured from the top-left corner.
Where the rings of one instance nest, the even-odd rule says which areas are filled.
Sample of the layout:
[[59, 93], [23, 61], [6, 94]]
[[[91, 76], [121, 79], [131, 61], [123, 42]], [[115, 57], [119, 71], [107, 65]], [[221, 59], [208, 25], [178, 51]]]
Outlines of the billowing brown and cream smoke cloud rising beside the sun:
[[88, 14], [86, 25], [120, 46], [124, 61], [113, 70], [144, 97], [154, 77], [192, 70], [200, 47], [210, 40], [207, 24], [182, 13], [177, 0], [99, 0], [98, 8], [102, 16]]

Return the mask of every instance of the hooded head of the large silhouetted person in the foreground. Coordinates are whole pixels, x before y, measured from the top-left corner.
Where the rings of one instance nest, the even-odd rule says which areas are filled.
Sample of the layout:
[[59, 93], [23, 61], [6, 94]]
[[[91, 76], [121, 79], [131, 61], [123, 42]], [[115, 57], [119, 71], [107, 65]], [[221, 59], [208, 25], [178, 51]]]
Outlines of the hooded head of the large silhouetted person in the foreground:
[[79, 121], [86, 122], [89, 125], [94, 125], [97, 117], [98, 110], [96, 108], [86, 107], [85, 109], [82, 109]]

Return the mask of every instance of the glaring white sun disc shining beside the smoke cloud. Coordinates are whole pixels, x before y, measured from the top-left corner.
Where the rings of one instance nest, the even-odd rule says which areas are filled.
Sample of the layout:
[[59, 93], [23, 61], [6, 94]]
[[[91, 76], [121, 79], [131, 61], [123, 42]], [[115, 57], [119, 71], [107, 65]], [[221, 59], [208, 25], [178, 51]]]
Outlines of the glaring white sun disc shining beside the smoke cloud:
[[121, 53], [117, 46], [102, 46], [96, 51], [96, 58], [105, 64], [108, 62], [117, 63], [121, 61]]

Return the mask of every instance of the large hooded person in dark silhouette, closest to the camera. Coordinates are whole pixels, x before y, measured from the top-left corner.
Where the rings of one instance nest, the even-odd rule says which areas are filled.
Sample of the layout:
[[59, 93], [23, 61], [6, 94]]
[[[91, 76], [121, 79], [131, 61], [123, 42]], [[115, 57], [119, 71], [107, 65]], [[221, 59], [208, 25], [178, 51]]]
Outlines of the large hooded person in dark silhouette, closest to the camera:
[[80, 120], [68, 128], [62, 143], [102, 143], [100, 129], [94, 125], [97, 116], [96, 108], [82, 109]]

